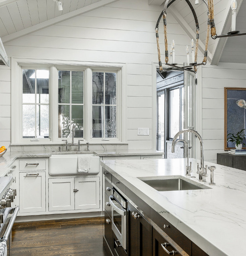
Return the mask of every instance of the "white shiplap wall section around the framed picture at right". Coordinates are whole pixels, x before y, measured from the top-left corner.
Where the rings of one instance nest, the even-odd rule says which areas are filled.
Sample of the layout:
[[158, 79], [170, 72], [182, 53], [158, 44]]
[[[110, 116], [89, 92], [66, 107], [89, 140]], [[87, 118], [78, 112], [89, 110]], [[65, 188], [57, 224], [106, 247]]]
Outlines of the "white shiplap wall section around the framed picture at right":
[[202, 68], [204, 159], [217, 162], [224, 152], [224, 87], [246, 87], [246, 64], [219, 63]]

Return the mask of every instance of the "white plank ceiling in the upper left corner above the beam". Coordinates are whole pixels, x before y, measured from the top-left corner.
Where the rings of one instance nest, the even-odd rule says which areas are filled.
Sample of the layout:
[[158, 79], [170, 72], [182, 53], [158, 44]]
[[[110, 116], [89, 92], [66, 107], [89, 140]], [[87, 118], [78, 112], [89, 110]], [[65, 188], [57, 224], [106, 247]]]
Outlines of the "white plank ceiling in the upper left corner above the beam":
[[53, 0], [16, 0], [0, 4], [0, 37], [73, 12], [101, 0], [61, 0], [59, 11]]

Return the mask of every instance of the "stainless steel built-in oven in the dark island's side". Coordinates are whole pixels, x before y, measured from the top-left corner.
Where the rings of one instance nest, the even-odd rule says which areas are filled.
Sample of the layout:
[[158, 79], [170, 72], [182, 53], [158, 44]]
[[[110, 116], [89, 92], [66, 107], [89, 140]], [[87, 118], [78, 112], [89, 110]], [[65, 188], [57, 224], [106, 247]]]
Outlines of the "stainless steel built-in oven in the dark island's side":
[[[120, 193], [112, 188], [112, 195], [109, 197], [110, 205], [112, 206], [112, 230], [116, 235], [122, 247], [126, 250], [127, 247], [127, 210], [126, 200]], [[119, 244], [116, 244], [118, 247]]]

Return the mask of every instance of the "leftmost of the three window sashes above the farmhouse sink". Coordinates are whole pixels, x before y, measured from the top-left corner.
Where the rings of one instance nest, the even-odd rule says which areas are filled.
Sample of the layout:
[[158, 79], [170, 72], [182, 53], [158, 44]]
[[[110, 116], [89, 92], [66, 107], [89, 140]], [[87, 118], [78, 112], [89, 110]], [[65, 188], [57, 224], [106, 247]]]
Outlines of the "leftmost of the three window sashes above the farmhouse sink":
[[49, 137], [49, 71], [22, 69], [22, 138]]

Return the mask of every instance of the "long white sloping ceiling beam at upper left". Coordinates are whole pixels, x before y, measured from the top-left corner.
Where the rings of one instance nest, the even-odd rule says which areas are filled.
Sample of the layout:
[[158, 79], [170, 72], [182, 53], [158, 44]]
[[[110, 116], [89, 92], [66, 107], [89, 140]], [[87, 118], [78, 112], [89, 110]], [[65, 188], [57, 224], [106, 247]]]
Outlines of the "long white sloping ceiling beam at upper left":
[[119, 1], [119, 0], [101, 0], [97, 3], [90, 4], [88, 6], [80, 8], [80, 9], [75, 10], [73, 12], [63, 14], [63, 15], [58, 16], [56, 18], [50, 19], [48, 21], [41, 22], [40, 24], [31, 26], [29, 28], [22, 29], [22, 30], [17, 31], [15, 33], [12, 33], [10, 35], [6, 35], [5, 37], [2, 37], [2, 41], [3, 41], [3, 43], [7, 43], [9, 41], [15, 40], [15, 39], [17, 39], [19, 37], [22, 37], [24, 35], [28, 35], [32, 32], [38, 31], [40, 29], [47, 28], [48, 26], [52, 26], [52, 25], [57, 24], [61, 21], [65, 21], [67, 19], [73, 18], [75, 16], [81, 15], [81, 14], [89, 12], [91, 10], [95, 10], [99, 7], [105, 6], [105, 5], [110, 4], [110, 3], [114, 3], [116, 1]]

